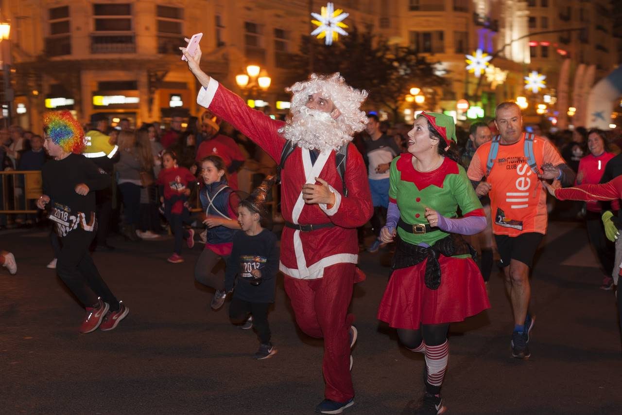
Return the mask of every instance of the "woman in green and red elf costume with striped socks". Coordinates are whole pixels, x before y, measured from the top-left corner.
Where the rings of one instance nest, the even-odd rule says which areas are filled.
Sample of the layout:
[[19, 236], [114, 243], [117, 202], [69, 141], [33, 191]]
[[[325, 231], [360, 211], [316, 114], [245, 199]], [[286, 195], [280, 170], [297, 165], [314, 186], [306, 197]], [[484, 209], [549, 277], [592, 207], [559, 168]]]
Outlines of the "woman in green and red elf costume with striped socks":
[[390, 169], [381, 239], [396, 239], [397, 247], [378, 319], [397, 329], [404, 346], [425, 354], [421, 409], [441, 414], [449, 323], [490, 307], [474, 251], [460, 236], [481, 232], [486, 217], [465, 170], [447, 153], [448, 140], [456, 141], [453, 118], [422, 112], [408, 137], [408, 153]]

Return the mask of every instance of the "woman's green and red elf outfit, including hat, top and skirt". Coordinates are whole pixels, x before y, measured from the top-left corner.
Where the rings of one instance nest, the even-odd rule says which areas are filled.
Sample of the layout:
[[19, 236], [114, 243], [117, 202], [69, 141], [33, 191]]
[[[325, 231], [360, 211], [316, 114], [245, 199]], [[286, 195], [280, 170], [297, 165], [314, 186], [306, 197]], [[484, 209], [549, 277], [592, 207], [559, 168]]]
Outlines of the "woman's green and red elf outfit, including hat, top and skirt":
[[[448, 117], [451, 125], [445, 128], [433, 114], [422, 113], [439, 133], [455, 137], [453, 119]], [[403, 153], [392, 161], [389, 177], [389, 201], [397, 204], [400, 217], [378, 319], [417, 330], [421, 324], [460, 322], [490, 308], [472, 248], [462, 236], [440, 230], [440, 221], [439, 227], [430, 227], [424, 215], [429, 207], [439, 217], [457, 218], [458, 208], [462, 217], [485, 217], [465, 169], [445, 157], [439, 168], [420, 172], [412, 155]]]

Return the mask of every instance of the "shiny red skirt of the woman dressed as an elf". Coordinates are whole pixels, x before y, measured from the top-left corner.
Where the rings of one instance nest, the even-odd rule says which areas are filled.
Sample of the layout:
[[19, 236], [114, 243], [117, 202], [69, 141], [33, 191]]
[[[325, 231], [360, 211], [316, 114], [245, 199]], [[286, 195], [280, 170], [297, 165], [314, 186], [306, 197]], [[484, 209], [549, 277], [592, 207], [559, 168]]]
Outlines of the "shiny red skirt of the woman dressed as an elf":
[[378, 320], [394, 328], [416, 330], [420, 324], [462, 322], [490, 308], [480, 270], [471, 258], [440, 255], [440, 286], [425, 286], [423, 260], [391, 274], [378, 308]]

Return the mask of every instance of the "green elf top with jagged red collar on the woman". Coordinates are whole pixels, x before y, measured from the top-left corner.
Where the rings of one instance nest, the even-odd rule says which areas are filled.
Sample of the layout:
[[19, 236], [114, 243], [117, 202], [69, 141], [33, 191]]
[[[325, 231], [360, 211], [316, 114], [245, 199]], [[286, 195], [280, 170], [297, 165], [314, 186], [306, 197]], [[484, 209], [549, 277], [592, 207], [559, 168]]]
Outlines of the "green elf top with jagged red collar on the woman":
[[[439, 168], [422, 173], [412, 166], [411, 155], [402, 154], [391, 163], [389, 181], [389, 198], [397, 203], [402, 220], [409, 224], [428, 223], [425, 207], [448, 218], [457, 217], [458, 207], [463, 215], [482, 208], [465, 169], [447, 157]], [[397, 233], [409, 244], [425, 242], [430, 246], [448, 235], [443, 231], [411, 234], [401, 227], [397, 227]]]

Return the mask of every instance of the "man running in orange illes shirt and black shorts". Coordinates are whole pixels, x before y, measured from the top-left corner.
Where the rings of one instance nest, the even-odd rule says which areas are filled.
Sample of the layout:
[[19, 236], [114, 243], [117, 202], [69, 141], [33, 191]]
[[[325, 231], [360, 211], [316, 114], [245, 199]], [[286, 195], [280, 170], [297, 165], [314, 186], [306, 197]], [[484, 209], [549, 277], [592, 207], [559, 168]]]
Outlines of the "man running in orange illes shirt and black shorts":
[[[531, 356], [527, 343], [534, 326], [534, 317], [528, 313], [529, 268], [547, 227], [546, 189], [540, 180], [560, 179], [564, 186], [571, 186], [575, 174], [547, 139], [526, 136], [516, 103], [499, 104], [494, 123], [499, 138], [476, 150], [467, 174], [480, 198], [490, 196], [494, 239], [514, 312], [512, 355], [526, 359]], [[496, 140], [494, 155], [490, 150]], [[532, 151], [531, 157], [528, 151]], [[491, 168], [487, 166], [489, 154], [493, 158]]]

